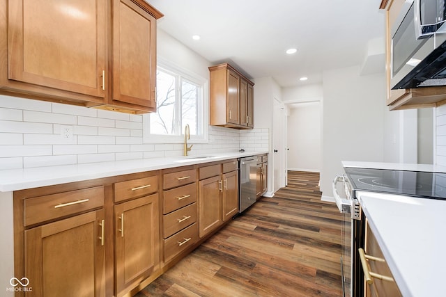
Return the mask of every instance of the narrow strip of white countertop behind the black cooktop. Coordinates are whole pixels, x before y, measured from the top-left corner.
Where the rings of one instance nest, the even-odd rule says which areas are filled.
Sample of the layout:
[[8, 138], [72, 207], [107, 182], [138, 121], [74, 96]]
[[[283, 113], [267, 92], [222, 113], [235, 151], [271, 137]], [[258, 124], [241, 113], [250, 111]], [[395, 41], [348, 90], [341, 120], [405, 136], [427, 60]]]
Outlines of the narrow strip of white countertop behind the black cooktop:
[[424, 171], [424, 172], [446, 172], [445, 166], [438, 166], [438, 165], [432, 165], [432, 164], [415, 164], [415, 163], [342, 161], [342, 166], [351, 167], [351, 168], [409, 170], [409, 171]]

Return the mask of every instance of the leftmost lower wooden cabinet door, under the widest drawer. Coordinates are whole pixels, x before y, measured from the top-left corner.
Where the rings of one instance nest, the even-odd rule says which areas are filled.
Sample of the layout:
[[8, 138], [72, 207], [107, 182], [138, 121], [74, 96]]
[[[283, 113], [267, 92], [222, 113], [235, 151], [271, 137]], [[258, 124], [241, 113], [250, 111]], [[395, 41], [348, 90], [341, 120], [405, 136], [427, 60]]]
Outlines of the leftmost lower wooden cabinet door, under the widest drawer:
[[105, 296], [103, 210], [24, 232], [26, 296]]

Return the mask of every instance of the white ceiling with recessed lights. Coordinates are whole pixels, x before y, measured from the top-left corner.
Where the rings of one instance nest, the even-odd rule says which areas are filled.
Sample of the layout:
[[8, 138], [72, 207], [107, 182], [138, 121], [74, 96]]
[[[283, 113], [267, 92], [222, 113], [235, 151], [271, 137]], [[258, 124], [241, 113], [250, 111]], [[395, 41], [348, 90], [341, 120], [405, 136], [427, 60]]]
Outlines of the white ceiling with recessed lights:
[[[360, 65], [367, 42], [384, 35], [379, 0], [146, 0], [160, 29], [213, 64], [279, 86], [319, 83], [323, 70]], [[192, 35], [201, 40], [192, 40]], [[285, 54], [295, 47], [296, 54]]]

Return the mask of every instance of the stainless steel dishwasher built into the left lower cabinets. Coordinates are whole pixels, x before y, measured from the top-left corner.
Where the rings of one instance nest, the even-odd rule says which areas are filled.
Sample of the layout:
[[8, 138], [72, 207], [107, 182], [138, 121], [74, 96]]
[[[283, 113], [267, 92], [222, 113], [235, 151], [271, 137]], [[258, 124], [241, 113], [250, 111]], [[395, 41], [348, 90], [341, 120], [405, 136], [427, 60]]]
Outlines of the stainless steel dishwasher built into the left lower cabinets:
[[247, 156], [238, 159], [238, 168], [240, 168], [238, 212], [242, 213], [256, 202], [257, 157]]

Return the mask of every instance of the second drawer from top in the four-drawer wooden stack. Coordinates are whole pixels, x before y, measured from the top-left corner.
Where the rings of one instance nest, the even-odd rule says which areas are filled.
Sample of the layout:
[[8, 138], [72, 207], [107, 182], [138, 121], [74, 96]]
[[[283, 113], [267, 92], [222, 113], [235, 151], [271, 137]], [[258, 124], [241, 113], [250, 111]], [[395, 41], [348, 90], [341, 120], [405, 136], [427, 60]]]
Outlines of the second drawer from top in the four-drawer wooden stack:
[[172, 188], [163, 193], [162, 213], [169, 214], [169, 212], [185, 207], [187, 204], [191, 204], [195, 201], [197, 201], [196, 183]]

